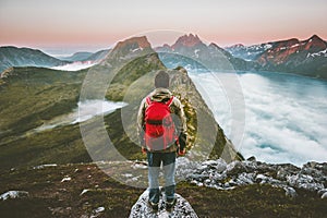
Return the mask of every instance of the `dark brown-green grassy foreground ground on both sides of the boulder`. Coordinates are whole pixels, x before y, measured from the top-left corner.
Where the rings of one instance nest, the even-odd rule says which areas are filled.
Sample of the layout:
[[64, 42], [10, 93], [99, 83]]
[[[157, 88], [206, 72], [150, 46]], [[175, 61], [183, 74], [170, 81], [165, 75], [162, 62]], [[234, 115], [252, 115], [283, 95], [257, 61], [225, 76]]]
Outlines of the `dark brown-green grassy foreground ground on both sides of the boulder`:
[[[66, 165], [44, 169], [0, 171], [0, 193], [23, 190], [27, 198], [0, 202], [0, 217], [81, 217], [104, 206], [100, 217], [128, 217], [142, 189], [109, 178], [95, 165]], [[71, 181], [61, 182], [65, 177]], [[89, 192], [81, 195], [84, 189]], [[177, 192], [198, 217], [325, 217], [326, 199], [298, 190], [289, 198], [282, 189], [247, 185], [231, 191], [198, 187], [184, 182]]]

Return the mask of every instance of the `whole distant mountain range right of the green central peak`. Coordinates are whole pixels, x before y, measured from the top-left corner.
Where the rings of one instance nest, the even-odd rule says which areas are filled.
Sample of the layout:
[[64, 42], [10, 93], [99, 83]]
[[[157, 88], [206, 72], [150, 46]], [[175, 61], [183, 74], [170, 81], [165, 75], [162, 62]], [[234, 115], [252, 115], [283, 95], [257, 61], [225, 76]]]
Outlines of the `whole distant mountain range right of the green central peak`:
[[181, 36], [169, 46], [157, 47], [162, 62], [190, 69], [276, 71], [327, 78], [327, 43], [316, 35], [307, 40], [271, 41], [221, 48], [211, 43], [205, 45], [196, 35]]

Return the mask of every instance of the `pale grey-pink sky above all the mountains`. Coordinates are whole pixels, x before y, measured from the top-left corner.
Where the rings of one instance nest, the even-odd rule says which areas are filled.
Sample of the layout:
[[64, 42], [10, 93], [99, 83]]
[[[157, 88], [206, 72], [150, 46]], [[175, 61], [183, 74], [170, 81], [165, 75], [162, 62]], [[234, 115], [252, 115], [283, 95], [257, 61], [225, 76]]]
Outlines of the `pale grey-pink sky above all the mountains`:
[[[185, 33], [222, 47], [326, 40], [326, 0], [0, 0], [0, 46], [97, 50], [149, 32], [153, 44]], [[160, 38], [167, 29], [177, 34]]]

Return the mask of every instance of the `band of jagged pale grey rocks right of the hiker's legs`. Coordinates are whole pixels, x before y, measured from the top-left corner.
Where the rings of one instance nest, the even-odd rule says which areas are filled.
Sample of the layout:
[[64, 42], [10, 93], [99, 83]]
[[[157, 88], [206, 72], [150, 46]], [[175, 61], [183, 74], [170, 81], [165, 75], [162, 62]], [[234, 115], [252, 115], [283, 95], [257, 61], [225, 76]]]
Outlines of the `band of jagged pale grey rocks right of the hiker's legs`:
[[180, 178], [198, 186], [232, 190], [251, 184], [269, 184], [282, 187], [286, 195], [296, 197], [296, 190], [314, 192], [322, 198], [327, 193], [327, 164], [307, 162], [302, 168], [291, 164], [272, 165], [256, 160], [232, 161], [223, 159], [192, 162], [178, 159]]

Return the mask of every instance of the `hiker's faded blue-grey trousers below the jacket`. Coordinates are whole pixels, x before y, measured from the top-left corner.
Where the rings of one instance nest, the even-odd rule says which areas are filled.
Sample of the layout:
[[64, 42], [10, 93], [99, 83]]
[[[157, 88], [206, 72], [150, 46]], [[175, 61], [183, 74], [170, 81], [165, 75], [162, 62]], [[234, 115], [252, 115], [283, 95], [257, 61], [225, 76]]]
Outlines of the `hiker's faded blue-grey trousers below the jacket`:
[[166, 201], [171, 202], [174, 198], [174, 172], [175, 172], [175, 153], [147, 153], [148, 161], [148, 183], [149, 201], [157, 204], [159, 202], [159, 172], [160, 165], [164, 165], [165, 194]]

